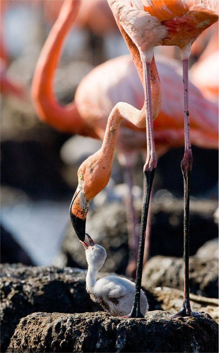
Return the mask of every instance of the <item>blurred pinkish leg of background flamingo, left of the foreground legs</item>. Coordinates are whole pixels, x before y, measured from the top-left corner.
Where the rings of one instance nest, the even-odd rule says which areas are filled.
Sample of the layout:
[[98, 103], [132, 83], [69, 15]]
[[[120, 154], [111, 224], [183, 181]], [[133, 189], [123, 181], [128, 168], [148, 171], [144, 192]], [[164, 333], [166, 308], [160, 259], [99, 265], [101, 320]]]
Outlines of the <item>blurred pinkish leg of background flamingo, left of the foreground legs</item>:
[[136, 273], [136, 264], [138, 256], [138, 247], [139, 247], [139, 231], [137, 225], [139, 223], [136, 216], [136, 211], [134, 209], [134, 197], [132, 194], [133, 188], [133, 166], [123, 166], [123, 176], [124, 182], [128, 185], [129, 194], [125, 198], [125, 207], [127, 214], [127, 223], [128, 223], [128, 244], [129, 251], [133, 254], [129, 256], [129, 263], [126, 269], [127, 276], [135, 277]]

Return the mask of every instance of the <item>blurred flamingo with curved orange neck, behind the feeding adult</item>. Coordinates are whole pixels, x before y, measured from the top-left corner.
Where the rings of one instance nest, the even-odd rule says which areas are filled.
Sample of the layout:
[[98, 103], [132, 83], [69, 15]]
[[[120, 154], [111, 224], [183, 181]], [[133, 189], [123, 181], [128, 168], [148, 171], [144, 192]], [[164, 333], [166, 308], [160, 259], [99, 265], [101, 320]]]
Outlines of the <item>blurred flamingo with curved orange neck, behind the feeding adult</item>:
[[[65, 107], [57, 102], [53, 92], [54, 74], [65, 36], [77, 16], [76, 9], [75, 1], [63, 4], [44, 44], [32, 82], [33, 103], [39, 118], [58, 130], [103, 139], [107, 118], [115, 104], [125, 100], [140, 109], [144, 102], [144, 90], [130, 55], [125, 55], [99, 65], [86, 75], [77, 88], [74, 102]], [[158, 68], [164, 99], [158, 119], [154, 121], [154, 129], [156, 151], [160, 156], [168, 148], [182, 145], [184, 140], [179, 114], [179, 106], [183, 106], [180, 96], [182, 78], [178, 73], [180, 67], [174, 60], [167, 62], [165, 58], [160, 58]], [[208, 103], [193, 85], [190, 90], [192, 142], [204, 148], [217, 148], [217, 107]], [[170, 96], [172, 100], [167, 102]], [[117, 148], [125, 171], [124, 177], [131, 182], [130, 171], [134, 167], [135, 151], [145, 150], [146, 147], [145, 132], [122, 121]], [[131, 182], [128, 183], [129, 189], [132, 187]], [[129, 247], [137, 257], [137, 219], [132, 203], [129, 214], [135, 229], [135, 243], [129, 240]], [[129, 275], [133, 274], [133, 267], [132, 262]]]

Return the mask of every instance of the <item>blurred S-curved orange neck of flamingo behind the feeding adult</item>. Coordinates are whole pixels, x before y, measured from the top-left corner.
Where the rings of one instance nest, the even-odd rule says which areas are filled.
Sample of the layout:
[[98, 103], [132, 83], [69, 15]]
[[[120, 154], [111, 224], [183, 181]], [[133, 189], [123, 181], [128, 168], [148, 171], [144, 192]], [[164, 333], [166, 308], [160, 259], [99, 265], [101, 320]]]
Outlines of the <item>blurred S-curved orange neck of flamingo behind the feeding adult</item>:
[[58, 130], [89, 135], [75, 102], [65, 107], [53, 92], [54, 75], [62, 47], [79, 10], [79, 1], [65, 1], [41, 50], [32, 82], [32, 99], [39, 118]]

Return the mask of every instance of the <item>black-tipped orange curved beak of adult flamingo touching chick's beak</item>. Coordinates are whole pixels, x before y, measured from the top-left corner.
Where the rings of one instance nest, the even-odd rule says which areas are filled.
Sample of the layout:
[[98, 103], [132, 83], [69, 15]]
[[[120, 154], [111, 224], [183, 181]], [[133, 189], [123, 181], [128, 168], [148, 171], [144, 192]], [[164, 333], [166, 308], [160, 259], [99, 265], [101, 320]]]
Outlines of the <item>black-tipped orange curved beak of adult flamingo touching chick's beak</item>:
[[81, 241], [85, 239], [86, 216], [90, 201], [84, 195], [83, 187], [78, 185], [70, 205], [70, 218], [73, 228]]

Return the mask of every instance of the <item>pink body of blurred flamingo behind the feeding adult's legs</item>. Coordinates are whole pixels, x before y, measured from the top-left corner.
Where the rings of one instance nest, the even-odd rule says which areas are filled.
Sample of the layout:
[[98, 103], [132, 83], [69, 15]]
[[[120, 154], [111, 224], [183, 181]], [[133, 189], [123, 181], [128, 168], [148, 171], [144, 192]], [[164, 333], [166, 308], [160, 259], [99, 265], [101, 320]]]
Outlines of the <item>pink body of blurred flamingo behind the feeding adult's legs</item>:
[[[157, 145], [169, 145], [169, 147], [183, 145], [184, 130], [180, 114], [180, 107], [183, 107], [183, 97], [180, 95], [182, 90], [181, 67], [176, 60], [165, 57], [159, 57], [156, 62], [163, 97], [161, 111], [154, 120], [155, 142]], [[114, 72], [117, 75], [113, 76]], [[207, 101], [192, 83], [189, 85], [189, 91], [191, 94], [191, 129], [194, 132], [192, 143], [204, 148], [217, 148], [217, 105]], [[111, 109], [125, 97], [127, 97], [127, 103], [138, 109], [142, 107], [144, 90], [130, 55], [111, 59], [92, 70], [79, 84], [75, 104], [82, 119], [90, 126], [95, 126], [97, 134], [102, 138]], [[98, 122], [100, 127], [98, 127]], [[142, 148], [146, 148], [145, 133], [131, 123], [128, 125], [127, 122], [124, 124], [122, 121], [119, 136], [123, 134], [122, 130], [127, 126], [135, 131], [135, 141], [125, 138], [120, 141], [118, 137], [117, 144], [128, 149], [130, 143], [132, 150], [136, 144], [137, 149], [140, 148], [140, 144]]]

